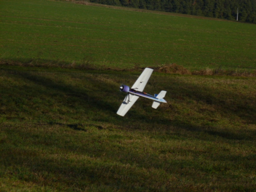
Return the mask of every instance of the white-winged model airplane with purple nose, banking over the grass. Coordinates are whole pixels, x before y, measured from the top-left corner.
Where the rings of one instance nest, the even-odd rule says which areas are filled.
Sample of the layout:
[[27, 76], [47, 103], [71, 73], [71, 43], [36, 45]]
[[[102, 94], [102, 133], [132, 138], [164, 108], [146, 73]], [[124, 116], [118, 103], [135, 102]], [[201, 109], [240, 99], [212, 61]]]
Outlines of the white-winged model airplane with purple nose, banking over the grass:
[[152, 108], [155, 109], [160, 105], [161, 102], [166, 103], [166, 100], [164, 100], [166, 91], [161, 91], [158, 95], [155, 94], [154, 96], [143, 92], [143, 89], [148, 83], [148, 79], [151, 76], [152, 72], [153, 69], [145, 68], [137, 81], [132, 85], [132, 88], [127, 85], [120, 86], [120, 91], [126, 92], [128, 94], [124, 98], [123, 103], [117, 111], [118, 115], [124, 116], [139, 97], [145, 97], [154, 100]]

